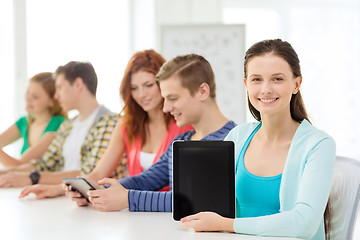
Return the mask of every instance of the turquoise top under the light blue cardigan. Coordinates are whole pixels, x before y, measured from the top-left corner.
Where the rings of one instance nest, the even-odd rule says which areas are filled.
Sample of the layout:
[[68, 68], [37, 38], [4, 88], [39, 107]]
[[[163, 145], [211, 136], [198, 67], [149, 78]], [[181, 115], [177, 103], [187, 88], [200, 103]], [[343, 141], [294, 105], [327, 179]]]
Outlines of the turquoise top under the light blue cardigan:
[[241, 149], [236, 169], [236, 217], [259, 217], [279, 213], [281, 175], [260, 177], [250, 173], [244, 164], [244, 156], [255, 133], [251, 133]]

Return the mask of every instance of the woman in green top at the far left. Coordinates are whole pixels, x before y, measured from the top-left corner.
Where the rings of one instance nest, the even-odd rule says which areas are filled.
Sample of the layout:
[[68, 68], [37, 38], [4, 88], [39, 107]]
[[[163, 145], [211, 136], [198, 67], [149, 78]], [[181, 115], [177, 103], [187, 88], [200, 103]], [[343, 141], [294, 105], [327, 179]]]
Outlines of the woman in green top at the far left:
[[[67, 117], [54, 99], [55, 80], [50, 72], [38, 73], [30, 79], [25, 94], [27, 116], [24, 116], [0, 134], [0, 163], [17, 166], [39, 158], [46, 151], [55, 132]], [[15, 159], [1, 148], [22, 138], [21, 158]]]

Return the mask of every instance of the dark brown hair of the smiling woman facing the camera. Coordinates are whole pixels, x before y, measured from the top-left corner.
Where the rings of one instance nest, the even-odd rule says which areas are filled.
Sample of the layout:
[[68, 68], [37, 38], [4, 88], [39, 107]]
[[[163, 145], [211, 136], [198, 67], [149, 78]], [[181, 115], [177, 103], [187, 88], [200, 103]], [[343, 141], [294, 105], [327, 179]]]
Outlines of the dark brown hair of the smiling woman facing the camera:
[[[281, 39], [274, 39], [274, 40], [264, 40], [255, 43], [246, 51], [245, 61], [244, 61], [245, 78], [247, 78], [247, 65], [250, 59], [269, 53], [283, 58], [290, 65], [294, 77], [301, 77], [300, 61], [293, 47], [290, 45], [290, 43], [286, 41], [283, 41]], [[260, 112], [256, 110], [256, 108], [250, 103], [249, 96], [248, 96], [248, 105], [253, 117], [256, 120], [260, 121], [261, 120]], [[300, 90], [296, 94], [293, 94], [291, 97], [290, 114], [291, 114], [291, 118], [297, 122], [301, 122], [304, 119], [309, 121], [305, 109], [304, 101], [301, 97]]]

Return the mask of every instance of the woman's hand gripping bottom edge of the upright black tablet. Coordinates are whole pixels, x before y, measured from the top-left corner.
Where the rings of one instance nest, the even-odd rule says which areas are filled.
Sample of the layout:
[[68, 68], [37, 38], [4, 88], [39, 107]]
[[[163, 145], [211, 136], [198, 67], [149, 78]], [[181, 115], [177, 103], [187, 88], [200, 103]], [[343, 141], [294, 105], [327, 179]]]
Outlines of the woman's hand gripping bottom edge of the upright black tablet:
[[196, 232], [234, 232], [234, 219], [222, 217], [214, 212], [197, 213], [184, 217], [180, 221], [183, 227], [192, 228]]

